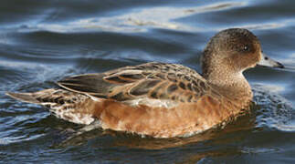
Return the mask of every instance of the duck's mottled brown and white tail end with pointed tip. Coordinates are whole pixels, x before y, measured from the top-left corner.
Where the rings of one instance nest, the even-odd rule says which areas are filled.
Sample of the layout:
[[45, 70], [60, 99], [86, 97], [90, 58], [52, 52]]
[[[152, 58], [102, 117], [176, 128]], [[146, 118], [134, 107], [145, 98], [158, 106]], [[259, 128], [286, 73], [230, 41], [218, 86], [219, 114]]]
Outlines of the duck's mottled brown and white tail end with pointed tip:
[[7, 96], [49, 108], [58, 118], [79, 124], [90, 124], [95, 109], [90, 97], [64, 89], [45, 89], [33, 93], [12, 93]]

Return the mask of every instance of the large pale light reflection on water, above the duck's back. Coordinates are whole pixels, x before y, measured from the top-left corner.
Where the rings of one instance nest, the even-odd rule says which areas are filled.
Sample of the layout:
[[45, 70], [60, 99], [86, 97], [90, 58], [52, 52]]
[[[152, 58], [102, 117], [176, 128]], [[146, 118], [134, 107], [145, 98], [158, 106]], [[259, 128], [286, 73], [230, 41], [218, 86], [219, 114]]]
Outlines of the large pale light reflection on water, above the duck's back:
[[63, 24], [37, 24], [21, 26], [20, 32], [46, 30], [58, 33], [73, 32], [121, 32], [121, 33], [137, 33], [146, 32], [150, 28], [174, 29], [181, 31], [204, 31], [205, 28], [196, 26], [187, 26], [175, 19], [201, 14], [206, 12], [215, 12], [228, 8], [246, 5], [246, 3], [226, 2], [203, 5], [198, 7], [149, 7], [132, 9], [130, 13], [123, 15], [107, 16], [107, 17], [90, 17], [75, 20], [73, 22]]

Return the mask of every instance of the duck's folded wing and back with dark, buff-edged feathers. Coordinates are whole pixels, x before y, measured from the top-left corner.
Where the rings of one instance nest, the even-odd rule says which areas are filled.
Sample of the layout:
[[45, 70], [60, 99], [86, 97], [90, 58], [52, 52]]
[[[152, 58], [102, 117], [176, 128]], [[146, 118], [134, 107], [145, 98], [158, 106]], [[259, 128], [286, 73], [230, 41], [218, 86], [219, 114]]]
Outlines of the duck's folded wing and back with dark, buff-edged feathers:
[[213, 89], [195, 70], [176, 64], [147, 63], [122, 67], [102, 74], [66, 77], [60, 87], [90, 97], [126, 101], [149, 97], [196, 102]]

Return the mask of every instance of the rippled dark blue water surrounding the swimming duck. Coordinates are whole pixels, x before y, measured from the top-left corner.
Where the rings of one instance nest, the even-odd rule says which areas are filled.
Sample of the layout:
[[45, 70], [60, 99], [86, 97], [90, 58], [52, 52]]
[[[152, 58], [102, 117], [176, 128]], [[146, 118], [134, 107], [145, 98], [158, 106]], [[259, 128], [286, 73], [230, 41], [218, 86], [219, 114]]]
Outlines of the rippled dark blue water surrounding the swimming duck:
[[[295, 1], [12, 1], [0, 5], [0, 162], [294, 163]], [[5, 91], [150, 61], [200, 71], [208, 39], [228, 27], [254, 32], [285, 69], [245, 75], [253, 110], [223, 130], [155, 139], [82, 128]]]

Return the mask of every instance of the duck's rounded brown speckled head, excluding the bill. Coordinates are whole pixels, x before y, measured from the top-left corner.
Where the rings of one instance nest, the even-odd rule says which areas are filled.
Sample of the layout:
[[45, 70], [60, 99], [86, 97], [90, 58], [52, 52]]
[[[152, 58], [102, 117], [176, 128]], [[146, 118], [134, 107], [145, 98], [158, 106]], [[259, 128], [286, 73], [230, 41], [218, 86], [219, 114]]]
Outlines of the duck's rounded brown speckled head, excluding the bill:
[[261, 58], [258, 37], [247, 29], [230, 28], [213, 36], [205, 47], [202, 59], [203, 75], [235, 74], [255, 67]]

